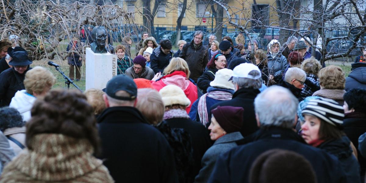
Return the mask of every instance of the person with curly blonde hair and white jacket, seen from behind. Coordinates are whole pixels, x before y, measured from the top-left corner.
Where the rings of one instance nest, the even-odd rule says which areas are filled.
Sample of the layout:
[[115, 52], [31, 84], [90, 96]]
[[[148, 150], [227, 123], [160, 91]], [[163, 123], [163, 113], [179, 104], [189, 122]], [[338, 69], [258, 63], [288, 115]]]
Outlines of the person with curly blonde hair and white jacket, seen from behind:
[[15, 108], [24, 121], [30, 119], [30, 109], [37, 98], [43, 97], [56, 83], [56, 77], [48, 69], [36, 66], [25, 74], [23, 81], [25, 90], [17, 91], [11, 99], [9, 107]]

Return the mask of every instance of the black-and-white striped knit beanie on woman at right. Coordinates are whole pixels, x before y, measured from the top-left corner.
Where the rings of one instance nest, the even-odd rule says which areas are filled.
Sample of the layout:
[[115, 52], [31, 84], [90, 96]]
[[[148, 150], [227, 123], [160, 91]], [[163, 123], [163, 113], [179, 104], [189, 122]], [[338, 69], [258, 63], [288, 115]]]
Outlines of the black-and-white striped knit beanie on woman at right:
[[320, 97], [310, 100], [301, 113], [302, 115], [310, 114], [318, 117], [339, 129], [341, 129], [341, 124], [343, 124], [343, 107], [338, 102], [328, 98]]

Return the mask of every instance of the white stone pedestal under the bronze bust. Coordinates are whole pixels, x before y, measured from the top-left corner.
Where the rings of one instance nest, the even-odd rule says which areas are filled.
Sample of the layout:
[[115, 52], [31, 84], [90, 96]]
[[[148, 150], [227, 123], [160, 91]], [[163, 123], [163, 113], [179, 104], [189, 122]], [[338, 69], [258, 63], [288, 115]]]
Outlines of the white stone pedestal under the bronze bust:
[[117, 75], [117, 55], [94, 53], [86, 48], [85, 90], [104, 89], [109, 79]]

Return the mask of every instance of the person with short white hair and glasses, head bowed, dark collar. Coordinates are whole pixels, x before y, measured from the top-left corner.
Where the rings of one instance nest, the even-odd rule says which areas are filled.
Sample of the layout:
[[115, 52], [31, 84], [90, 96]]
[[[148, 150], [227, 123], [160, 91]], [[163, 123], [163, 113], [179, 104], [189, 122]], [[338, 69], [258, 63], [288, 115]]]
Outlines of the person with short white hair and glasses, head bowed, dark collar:
[[280, 83], [280, 86], [289, 89], [291, 93], [294, 94], [296, 98], [298, 98], [299, 101], [302, 101], [300, 93], [302, 91], [302, 88], [304, 87], [305, 80], [305, 71], [297, 67], [291, 67], [288, 68], [288, 70], [286, 71], [285, 81], [282, 81]]

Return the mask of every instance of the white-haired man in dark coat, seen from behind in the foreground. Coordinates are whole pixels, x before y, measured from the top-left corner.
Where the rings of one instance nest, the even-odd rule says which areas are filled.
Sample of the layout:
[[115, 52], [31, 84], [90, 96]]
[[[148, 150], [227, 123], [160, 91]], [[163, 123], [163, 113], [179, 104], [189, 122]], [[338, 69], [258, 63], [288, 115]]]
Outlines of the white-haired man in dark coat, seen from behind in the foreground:
[[[255, 116], [260, 129], [251, 135], [254, 142], [234, 147], [221, 154], [208, 182], [249, 182], [254, 160], [271, 149], [285, 149], [301, 154], [312, 165], [318, 183], [344, 182], [340, 162], [323, 150], [303, 143], [293, 127], [297, 122], [298, 100], [280, 86], [271, 86], [254, 101]], [[291, 160], [289, 160], [291, 161]], [[294, 171], [301, 171], [294, 169]], [[288, 172], [290, 175], [291, 172]]]

